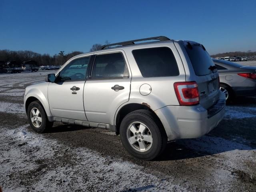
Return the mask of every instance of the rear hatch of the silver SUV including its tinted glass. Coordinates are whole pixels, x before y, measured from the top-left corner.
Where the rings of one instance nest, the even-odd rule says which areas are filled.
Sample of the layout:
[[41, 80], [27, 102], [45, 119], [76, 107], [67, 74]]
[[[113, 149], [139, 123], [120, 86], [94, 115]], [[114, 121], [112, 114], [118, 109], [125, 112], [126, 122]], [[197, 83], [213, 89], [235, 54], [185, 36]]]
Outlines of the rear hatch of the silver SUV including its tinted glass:
[[[219, 74], [212, 58], [202, 44], [184, 41], [184, 46], [195, 72], [187, 81], [196, 81], [200, 95], [200, 105], [208, 109], [219, 98]], [[190, 73], [191, 74], [191, 73]]]

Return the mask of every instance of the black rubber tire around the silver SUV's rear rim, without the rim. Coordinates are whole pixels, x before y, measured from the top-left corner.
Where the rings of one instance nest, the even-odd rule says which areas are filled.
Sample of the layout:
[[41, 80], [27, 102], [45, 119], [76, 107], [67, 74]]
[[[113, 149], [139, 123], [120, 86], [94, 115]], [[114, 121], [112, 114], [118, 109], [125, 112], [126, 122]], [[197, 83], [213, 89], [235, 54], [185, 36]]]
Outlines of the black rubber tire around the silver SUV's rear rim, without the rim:
[[[134, 122], [141, 122], [146, 125], [150, 131], [150, 135], [152, 135], [152, 144], [149, 149], [144, 152], [134, 149], [132, 144], [128, 141], [128, 127]], [[162, 124], [158, 122], [157, 118], [155, 118], [154, 114], [149, 110], [136, 110], [127, 114], [120, 125], [120, 137], [127, 152], [141, 160], [153, 160], [164, 151], [167, 144], [167, 136]], [[137, 143], [139, 144], [139, 142]]]

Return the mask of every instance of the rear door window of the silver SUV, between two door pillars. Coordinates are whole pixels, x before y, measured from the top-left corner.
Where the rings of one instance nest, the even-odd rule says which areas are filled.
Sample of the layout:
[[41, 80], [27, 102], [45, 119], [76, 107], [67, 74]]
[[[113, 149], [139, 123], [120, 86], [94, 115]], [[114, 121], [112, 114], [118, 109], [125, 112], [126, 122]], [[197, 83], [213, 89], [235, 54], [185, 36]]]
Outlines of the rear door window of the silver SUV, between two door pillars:
[[122, 53], [96, 55], [92, 79], [128, 78], [129, 72]]

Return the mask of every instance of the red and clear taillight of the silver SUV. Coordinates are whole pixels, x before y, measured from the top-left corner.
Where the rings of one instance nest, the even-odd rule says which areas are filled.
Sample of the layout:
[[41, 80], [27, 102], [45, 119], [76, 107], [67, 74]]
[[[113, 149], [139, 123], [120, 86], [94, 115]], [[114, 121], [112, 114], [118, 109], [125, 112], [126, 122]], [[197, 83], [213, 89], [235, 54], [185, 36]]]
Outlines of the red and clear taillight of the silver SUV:
[[176, 82], [174, 90], [180, 105], [197, 105], [199, 104], [199, 93], [197, 83], [192, 82]]

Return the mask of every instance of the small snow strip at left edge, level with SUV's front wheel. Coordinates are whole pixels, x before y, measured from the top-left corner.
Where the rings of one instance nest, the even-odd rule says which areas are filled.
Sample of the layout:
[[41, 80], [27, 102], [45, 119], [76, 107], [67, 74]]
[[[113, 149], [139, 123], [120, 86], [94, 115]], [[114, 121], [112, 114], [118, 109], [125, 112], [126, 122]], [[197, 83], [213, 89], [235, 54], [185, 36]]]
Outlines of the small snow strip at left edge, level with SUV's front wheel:
[[24, 105], [19, 103], [0, 102], [0, 112], [5, 113], [26, 113]]

